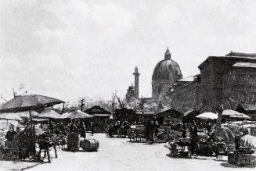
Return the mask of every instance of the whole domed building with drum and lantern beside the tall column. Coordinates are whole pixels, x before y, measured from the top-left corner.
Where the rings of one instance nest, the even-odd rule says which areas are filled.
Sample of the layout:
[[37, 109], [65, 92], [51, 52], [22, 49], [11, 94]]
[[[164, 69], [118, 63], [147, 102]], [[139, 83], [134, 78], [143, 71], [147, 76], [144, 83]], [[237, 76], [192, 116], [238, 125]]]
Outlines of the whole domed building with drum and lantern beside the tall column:
[[167, 48], [164, 60], [158, 62], [153, 69], [152, 98], [157, 101], [163, 100], [164, 92], [167, 92], [171, 84], [179, 79], [182, 79], [181, 69], [178, 63], [171, 59], [171, 53]]

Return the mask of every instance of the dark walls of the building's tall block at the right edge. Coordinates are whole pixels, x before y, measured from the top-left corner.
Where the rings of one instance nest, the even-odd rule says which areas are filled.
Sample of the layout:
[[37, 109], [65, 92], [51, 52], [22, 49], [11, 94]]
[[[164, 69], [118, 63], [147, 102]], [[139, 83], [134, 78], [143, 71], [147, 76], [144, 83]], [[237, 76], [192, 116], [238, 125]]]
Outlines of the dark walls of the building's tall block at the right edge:
[[236, 101], [237, 92], [243, 94], [240, 96], [246, 95], [245, 92], [256, 92], [256, 84], [252, 84], [256, 78], [256, 69], [233, 67], [236, 62], [256, 62], [256, 59], [213, 56], [199, 66], [202, 102], [207, 111], [215, 112], [216, 108], [229, 101], [229, 98]]

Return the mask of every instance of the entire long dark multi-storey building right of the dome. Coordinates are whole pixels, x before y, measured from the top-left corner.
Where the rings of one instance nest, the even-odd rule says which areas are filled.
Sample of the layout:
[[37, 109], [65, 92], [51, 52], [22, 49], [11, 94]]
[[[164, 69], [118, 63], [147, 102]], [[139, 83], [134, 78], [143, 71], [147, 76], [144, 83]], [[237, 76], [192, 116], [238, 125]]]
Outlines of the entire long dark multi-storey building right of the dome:
[[170, 87], [166, 95], [173, 107], [182, 112], [216, 112], [220, 106], [256, 105], [256, 54], [209, 56], [198, 68], [200, 75], [195, 79], [183, 86], [178, 86], [182, 80], [177, 80]]

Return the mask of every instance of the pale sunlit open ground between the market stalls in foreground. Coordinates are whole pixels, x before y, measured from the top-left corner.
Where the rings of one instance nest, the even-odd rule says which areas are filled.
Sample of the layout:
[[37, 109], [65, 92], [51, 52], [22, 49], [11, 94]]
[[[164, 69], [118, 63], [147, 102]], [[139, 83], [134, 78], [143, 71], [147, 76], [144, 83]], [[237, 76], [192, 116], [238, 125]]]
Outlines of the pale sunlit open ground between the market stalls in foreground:
[[128, 139], [109, 138], [105, 134], [88, 135], [88, 138], [99, 141], [99, 151], [59, 151], [59, 158], [53, 158], [52, 163], [29, 170], [255, 170], [236, 168], [215, 158], [172, 159], [164, 144], [129, 143]]

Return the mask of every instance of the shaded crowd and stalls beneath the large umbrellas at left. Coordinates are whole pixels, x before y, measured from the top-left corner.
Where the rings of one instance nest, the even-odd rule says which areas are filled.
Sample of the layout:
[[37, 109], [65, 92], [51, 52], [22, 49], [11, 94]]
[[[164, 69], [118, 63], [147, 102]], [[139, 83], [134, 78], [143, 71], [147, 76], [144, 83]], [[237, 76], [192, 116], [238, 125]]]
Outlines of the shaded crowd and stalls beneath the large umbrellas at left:
[[[49, 156], [49, 148], [53, 148], [57, 158], [56, 147], [67, 144], [68, 134], [78, 134], [78, 137], [86, 138], [86, 127], [94, 134], [94, 122], [91, 121], [85, 126], [81, 119], [73, 119], [71, 122], [59, 120], [49, 120], [48, 123], [19, 123], [16, 128], [9, 125], [9, 130], [5, 134], [5, 141], [0, 144], [0, 159], [11, 160], [40, 160], [41, 151], [45, 151], [44, 156]], [[59, 137], [63, 137], [61, 142]], [[63, 144], [60, 144], [63, 143]], [[39, 151], [36, 151], [38, 144]]]

